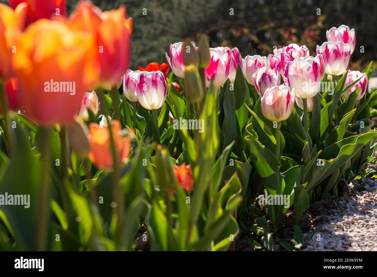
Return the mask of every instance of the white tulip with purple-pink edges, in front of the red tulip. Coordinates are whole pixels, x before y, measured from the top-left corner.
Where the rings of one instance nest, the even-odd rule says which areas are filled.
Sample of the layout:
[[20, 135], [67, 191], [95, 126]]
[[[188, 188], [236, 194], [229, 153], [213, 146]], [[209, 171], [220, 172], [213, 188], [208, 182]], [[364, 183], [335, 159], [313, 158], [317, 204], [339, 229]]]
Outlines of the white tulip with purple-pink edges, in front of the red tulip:
[[167, 84], [161, 71], [142, 71], [138, 75], [136, 87], [138, 101], [147, 110], [156, 110], [164, 105], [167, 95]]

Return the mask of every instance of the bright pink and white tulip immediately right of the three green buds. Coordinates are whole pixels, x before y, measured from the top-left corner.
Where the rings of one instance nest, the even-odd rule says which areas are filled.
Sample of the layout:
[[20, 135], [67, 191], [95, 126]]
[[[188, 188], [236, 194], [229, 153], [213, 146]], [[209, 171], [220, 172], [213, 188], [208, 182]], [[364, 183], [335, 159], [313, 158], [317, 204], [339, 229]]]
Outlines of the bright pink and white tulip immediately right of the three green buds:
[[222, 86], [227, 81], [231, 55], [231, 50], [228, 47], [210, 48], [210, 64], [204, 70], [206, 75], [205, 84], [207, 87], [210, 86], [211, 80], [215, 88]]

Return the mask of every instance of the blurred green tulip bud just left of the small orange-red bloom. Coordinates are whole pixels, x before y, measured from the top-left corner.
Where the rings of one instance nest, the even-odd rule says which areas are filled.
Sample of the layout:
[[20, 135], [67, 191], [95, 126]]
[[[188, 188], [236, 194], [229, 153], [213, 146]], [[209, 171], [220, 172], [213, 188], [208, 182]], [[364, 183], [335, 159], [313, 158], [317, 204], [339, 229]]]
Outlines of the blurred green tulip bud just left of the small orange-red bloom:
[[166, 148], [161, 145], [157, 146], [157, 182], [165, 191], [173, 188], [175, 177], [173, 167]]

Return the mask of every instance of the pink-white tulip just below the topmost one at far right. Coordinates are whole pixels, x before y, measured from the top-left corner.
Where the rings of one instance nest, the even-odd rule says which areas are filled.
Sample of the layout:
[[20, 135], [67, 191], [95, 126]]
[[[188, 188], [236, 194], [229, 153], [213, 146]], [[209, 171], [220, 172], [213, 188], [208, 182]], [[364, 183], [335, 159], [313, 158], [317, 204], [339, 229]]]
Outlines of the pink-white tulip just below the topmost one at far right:
[[351, 47], [348, 43], [324, 42], [317, 45], [317, 54], [321, 54], [325, 62], [325, 73], [328, 75], [341, 75], [347, 69]]

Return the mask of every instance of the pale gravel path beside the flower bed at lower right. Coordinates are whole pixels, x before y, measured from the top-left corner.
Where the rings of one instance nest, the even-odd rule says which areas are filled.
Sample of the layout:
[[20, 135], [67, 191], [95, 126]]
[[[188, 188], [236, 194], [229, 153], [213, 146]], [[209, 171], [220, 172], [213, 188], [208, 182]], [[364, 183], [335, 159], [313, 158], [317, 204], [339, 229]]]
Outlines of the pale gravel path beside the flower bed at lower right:
[[323, 199], [312, 208], [317, 232], [304, 251], [377, 251], [377, 180], [353, 181], [349, 188], [349, 199]]

